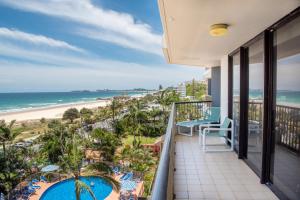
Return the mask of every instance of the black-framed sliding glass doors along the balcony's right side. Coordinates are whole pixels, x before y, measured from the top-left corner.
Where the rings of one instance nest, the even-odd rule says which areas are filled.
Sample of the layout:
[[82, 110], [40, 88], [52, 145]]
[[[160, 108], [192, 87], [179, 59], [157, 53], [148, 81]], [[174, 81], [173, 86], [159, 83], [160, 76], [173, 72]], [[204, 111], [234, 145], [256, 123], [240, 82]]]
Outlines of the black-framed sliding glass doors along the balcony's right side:
[[280, 199], [300, 199], [300, 7], [229, 55], [234, 149]]

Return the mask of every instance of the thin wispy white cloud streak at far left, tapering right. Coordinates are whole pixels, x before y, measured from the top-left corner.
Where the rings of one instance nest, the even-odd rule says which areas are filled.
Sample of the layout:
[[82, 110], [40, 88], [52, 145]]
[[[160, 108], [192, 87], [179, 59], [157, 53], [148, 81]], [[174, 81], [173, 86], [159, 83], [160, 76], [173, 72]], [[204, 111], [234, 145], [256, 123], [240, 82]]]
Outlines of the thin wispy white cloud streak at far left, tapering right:
[[55, 48], [64, 48], [72, 51], [85, 52], [85, 50], [76, 46], [70, 45], [67, 42], [55, 40], [43, 35], [34, 35], [25, 33], [15, 29], [0, 27], [0, 38], [9, 38], [17, 41], [24, 41], [35, 45], [45, 45]]

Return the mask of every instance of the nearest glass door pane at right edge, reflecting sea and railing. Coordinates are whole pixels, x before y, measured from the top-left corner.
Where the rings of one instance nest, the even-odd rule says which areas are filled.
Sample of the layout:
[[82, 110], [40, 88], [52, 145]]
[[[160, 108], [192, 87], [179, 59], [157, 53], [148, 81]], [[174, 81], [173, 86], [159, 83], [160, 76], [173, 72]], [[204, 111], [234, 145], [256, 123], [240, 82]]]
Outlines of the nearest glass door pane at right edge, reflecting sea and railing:
[[300, 199], [300, 17], [276, 31], [275, 139], [271, 178], [288, 199]]

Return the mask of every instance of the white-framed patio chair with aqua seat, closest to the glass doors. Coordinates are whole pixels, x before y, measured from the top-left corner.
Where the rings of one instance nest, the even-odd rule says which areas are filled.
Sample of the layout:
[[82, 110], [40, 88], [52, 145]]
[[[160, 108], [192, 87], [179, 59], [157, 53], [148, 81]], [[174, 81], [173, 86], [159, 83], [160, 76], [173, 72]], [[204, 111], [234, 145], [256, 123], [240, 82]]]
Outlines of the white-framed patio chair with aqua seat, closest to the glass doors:
[[[204, 129], [203, 129], [204, 128]], [[202, 130], [203, 129], [203, 130]], [[228, 137], [228, 132], [231, 132], [231, 137]], [[234, 147], [234, 131], [233, 131], [233, 120], [226, 117], [222, 124], [205, 124], [199, 126], [199, 144], [201, 144], [202, 136], [202, 150], [208, 151], [206, 149], [206, 137], [221, 137], [225, 139], [225, 142], [230, 143], [230, 149], [218, 149], [209, 151], [233, 151]]]

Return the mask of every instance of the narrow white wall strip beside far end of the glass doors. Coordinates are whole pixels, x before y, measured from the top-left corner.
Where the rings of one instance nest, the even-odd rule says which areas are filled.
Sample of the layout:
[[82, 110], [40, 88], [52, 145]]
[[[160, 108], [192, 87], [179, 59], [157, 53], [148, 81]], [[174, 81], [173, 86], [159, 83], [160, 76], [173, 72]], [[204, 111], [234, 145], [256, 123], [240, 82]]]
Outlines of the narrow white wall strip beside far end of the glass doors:
[[228, 116], [228, 56], [221, 59], [221, 122]]

